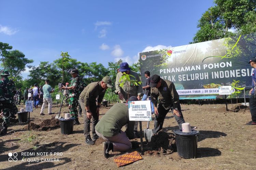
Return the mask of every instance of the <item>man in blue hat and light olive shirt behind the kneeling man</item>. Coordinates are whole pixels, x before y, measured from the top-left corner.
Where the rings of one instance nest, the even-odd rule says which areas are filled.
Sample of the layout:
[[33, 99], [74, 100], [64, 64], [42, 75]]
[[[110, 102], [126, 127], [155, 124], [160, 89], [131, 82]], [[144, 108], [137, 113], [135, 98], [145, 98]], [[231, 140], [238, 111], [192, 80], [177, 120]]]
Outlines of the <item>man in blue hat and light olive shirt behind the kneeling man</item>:
[[[136, 86], [134, 84], [130, 84], [129, 82], [128, 83], [126, 82], [123, 87], [120, 87], [119, 79], [122, 77], [124, 72], [126, 74], [133, 75], [133, 77], [130, 76], [131, 80], [140, 81], [139, 74], [135, 71], [132, 71], [131, 68], [129, 67], [128, 63], [121, 63], [119, 72], [116, 74], [115, 93], [117, 95], [119, 95], [119, 99], [120, 99], [121, 103], [122, 102], [125, 103], [128, 100], [128, 93], [129, 93], [129, 97], [136, 96], [138, 98], [138, 100], [140, 100], [141, 96], [142, 96], [142, 86], [140, 84], [138, 84], [138, 86]], [[134, 123], [134, 134], [136, 135], [136, 137], [139, 137], [138, 123], [139, 123], [138, 121], [136, 121]]]

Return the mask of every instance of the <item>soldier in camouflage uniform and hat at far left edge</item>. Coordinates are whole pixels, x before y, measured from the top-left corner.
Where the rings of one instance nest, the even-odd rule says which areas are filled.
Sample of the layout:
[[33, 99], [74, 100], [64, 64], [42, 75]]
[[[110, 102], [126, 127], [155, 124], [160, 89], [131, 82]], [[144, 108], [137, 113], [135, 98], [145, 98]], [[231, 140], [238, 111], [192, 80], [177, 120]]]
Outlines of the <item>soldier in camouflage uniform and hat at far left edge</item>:
[[10, 81], [8, 76], [9, 71], [0, 71], [0, 110], [3, 109], [3, 129], [1, 130], [1, 135], [7, 134], [7, 127], [10, 123], [9, 118], [11, 116], [13, 107], [13, 97], [16, 93], [13, 81]]

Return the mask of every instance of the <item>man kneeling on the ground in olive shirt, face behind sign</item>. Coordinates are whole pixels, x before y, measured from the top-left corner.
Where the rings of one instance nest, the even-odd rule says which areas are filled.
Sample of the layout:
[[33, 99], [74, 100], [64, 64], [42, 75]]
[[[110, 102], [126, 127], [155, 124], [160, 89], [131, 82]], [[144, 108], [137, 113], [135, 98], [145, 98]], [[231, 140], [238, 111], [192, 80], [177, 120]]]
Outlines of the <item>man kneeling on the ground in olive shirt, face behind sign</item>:
[[[128, 101], [138, 101], [138, 99], [132, 96]], [[127, 129], [123, 132], [121, 129], [126, 124], [128, 124]], [[114, 104], [95, 126], [96, 134], [106, 140], [103, 142], [106, 158], [109, 157], [110, 150], [112, 152], [125, 152], [131, 149], [129, 139], [134, 139], [133, 128], [134, 121], [129, 121], [128, 104]]]

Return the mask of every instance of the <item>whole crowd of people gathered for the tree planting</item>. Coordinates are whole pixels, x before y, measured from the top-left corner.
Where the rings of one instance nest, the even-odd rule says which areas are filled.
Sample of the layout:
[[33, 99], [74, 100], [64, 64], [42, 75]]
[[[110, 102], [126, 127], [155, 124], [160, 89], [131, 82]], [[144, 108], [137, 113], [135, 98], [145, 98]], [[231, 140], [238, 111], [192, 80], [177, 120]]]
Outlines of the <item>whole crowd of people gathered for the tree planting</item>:
[[[256, 70], [256, 58], [252, 59], [250, 64]], [[66, 85], [61, 85], [59, 87], [59, 89], [63, 90], [63, 96], [68, 98], [70, 115], [75, 118], [75, 125], [80, 124], [78, 112], [84, 114], [84, 135], [86, 145], [93, 145], [99, 137], [103, 138], [105, 140], [103, 146], [104, 156], [106, 158], [109, 157], [110, 151], [127, 151], [131, 149], [130, 139], [139, 137], [137, 130], [138, 121], [129, 121], [128, 101], [151, 101], [151, 112], [155, 115], [153, 133], [157, 133], [163, 128], [163, 122], [170, 110], [180, 129], [182, 128], [182, 123], [185, 122], [181, 111], [179, 95], [173, 82], [164, 80], [156, 74], [151, 77], [150, 72], [145, 71], [145, 86], [141, 86], [140, 84], [134, 85], [130, 82], [122, 82], [122, 79], [120, 78], [124, 73], [131, 75], [130, 80], [140, 81], [137, 72], [132, 71], [127, 63], [121, 63], [120, 67], [117, 69], [115, 80], [115, 93], [119, 96], [120, 102], [114, 104], [100, 120], [100, 105], [106, 89], [113, 88], [112, 80], [109, 76], [105, 76], [101, 81], [92, 82], [84, 87], [78, 76], [78, 70], [72, 69], [70, 71], [72, 76], [70, 84], [66, 83]], [[9, 118], [13, 117], [17, 112], [15, 104], [20, 104], [22, 95], [20, 91], [21, 89], [15, 91], [14, 82], [8, 79], [8, 71], [2, 70], [0, 75], [2, 78], [0, 81], [0, 109], [2, 110], [4, 119], [1, 135], [4, 135], [7, 133]], [[255, 76], [256, 75], [253, 74], [253, 89], [250, 91], [252, 96], [254, 96], [253, 94], [255, 93]], [[123, 83], [122, 86], [120, 86], [121, 83]], [[49, 85], [49, 80], [45, 80], [45, 85], [40, 86], [40, 88], [37, 84], [34, 84], [33, 87], [25, 89], [23, 93], [24, 102], [33, 99], [34, 108], [38, 108], [38, 105], [41, 104], [40, 115], [42, 116], [44, 115], [43, 112], [45, 106], [48, 103], [48, 114], [51, 115], [53, 114], [51, 97], [53, 90], [54, 89]], [[144, 95], [142, 93], [143, 90]], [[248, 122], [248, 125], [256, 124], [255, 98], [256, 97], [250, 98], [250, 105], [252, 105], [252, 121]], [[92, 139], [90, 136], [91, 121]], [[123, 126], [126, 128], [125, 132], [121, 130]]]

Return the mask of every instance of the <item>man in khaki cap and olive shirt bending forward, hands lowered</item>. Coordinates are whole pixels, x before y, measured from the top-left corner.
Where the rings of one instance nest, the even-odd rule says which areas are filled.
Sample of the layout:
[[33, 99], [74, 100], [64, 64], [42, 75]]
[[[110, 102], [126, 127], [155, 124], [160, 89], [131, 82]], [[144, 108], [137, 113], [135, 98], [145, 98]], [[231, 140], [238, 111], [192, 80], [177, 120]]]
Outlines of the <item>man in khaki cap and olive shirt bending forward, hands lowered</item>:
[[[112, 88], [112, 80], [109, 76], [106, 76], [100, 82], [93, 82], [87, 85], [81, 92], [79, 103], [81, 104], [84, 113], [84, 135], [86, 145], [93, 145], [94, 141], [98, 138], [95, 132], [95, 126], [99, 120], [100, 104], [105, 95], [107, 88]], [[99, 97], [98, 97], [99, 96]], [[98, 97], [98, 103], [96, 104], [96, 98]], [[85, 113], [86, 112], [86, 113]], [[93, 140], [90, 137], [90, 122], [92, 120], [92, 133]]]

